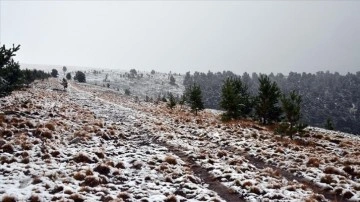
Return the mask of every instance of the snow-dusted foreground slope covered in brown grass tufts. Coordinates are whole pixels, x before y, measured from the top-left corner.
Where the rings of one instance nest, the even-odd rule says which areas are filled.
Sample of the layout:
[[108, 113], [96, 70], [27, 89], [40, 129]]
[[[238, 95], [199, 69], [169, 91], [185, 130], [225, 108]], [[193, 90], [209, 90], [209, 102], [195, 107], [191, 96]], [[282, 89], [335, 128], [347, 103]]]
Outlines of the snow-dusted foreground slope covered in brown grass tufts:
[[360, 201], [356, 136], [309, 128], [281, 139], [99, 85], [56, 88], [49, 80], [0, 100], [3, 198]]

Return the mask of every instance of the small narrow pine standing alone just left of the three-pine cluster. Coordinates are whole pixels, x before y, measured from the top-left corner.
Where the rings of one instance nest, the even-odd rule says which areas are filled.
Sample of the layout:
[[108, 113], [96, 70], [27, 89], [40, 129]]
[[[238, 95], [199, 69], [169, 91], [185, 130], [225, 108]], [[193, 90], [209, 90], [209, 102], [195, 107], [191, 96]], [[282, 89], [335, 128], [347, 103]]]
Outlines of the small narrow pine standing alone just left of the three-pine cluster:
[[186, 96], [188, 98], [188, 103], [190, 104], [190, 108], [192, 112], [197, 112], [204, 109], [204, 103], [202, 102], [202, 95], [200, 86], [197, 84], [193, 84], [186, 90]]

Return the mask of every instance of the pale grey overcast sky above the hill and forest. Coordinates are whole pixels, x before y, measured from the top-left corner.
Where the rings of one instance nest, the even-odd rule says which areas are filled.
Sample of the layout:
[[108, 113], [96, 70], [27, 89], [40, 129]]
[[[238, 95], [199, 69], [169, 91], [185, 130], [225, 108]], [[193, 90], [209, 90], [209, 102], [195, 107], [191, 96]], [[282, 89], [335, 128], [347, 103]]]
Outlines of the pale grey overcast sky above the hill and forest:
[[360, 71], [360, 1], [0, 1], [26, 64], [169, 72]]

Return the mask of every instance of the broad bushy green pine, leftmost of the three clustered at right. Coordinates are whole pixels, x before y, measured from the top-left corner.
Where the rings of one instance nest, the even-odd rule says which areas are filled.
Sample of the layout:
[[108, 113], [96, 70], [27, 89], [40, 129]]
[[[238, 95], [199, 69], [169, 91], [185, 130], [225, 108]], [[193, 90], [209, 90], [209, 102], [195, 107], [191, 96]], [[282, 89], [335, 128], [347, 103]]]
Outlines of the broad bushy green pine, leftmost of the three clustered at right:
[[240, 78], [227, 78], [221, 92], [220, 107], [226, 110], [224, 120], [246, 117], [251, 112], [250, 95]]

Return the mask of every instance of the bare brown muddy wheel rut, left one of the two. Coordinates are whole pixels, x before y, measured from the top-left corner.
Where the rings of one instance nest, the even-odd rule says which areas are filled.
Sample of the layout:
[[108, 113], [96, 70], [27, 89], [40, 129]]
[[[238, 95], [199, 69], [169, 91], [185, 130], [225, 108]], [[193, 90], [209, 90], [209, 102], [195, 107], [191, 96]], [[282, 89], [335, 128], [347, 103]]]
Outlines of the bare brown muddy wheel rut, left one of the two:
[[209, 184], [209, 189], [216, 192], [221, 198], [225, 199], [229, 202], [243, 202], [246, 201], [245, 198], [237, 193], [232, 193], [231, 190], [221, 184], [221, 182], [217, 181], [205, 168], [197, 165], [197, 163], [184, 152], [182, 152], [177, 147], [169, 145], [162, 141], [154, 140], [153, 143], [166, 147], [170, 152], [176, 154], [178, 157], [181, 158], [184, 162], [190, 165], [191, 170], [193, 173], [199, 177], [204, 183]]

